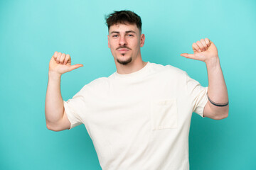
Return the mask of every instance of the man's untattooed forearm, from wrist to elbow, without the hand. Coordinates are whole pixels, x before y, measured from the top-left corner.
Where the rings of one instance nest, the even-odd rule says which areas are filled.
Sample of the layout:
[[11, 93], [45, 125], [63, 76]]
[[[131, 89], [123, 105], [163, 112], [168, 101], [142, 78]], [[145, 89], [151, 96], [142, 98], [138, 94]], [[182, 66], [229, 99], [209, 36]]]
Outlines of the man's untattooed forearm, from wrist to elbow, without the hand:
[[60, 93], [60, 74], [48, 73], [48, 86], [46, 91], [46, 123], [52, 125], [63, 118], [64, 106]]

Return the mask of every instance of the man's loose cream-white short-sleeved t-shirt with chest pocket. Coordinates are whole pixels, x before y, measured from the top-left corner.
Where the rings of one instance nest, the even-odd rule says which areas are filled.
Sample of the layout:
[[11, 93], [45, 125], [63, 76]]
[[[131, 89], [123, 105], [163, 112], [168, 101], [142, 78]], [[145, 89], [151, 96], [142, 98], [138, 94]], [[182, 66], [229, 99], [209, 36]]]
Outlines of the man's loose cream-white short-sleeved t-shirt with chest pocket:
[[71, 128], [85, 125], [103, 170], [188, 170], [191, 115], [203, 117], [207, 90], [181, 69], [147, 62], [63, 102]]

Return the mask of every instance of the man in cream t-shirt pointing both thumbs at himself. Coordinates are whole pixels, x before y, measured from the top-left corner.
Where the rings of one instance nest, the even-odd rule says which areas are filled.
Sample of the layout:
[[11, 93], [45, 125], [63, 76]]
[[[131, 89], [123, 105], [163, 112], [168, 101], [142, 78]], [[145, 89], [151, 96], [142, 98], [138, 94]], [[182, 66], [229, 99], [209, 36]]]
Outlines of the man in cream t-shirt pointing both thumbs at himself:
[[85, 85], [68, 101], [60, 94], [60, 76], [82, 64], [71, 65], [70, 55], [60, 52], [51, 58], [47, 128], [60, 131], [83, 123], [102, 169], [189, 169], [191, 114], [228, 116], [217, 48], [206, 38], [193, 43], [194, 54], [181, 54], [206, 63], [208, 87], [203, 87], [181, 69], [142, 61], [145, 35], [136, 13], [114, 11], [107, 26], [117, 72]]

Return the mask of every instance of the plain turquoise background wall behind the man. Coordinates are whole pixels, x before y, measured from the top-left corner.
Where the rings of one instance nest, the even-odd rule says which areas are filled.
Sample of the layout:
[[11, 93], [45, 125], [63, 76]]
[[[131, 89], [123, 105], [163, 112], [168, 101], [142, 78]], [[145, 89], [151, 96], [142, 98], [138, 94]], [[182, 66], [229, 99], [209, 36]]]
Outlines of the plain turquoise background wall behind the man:
[[46, 128], [44, 104], [53, 52], [84, 67], [64, 74], [64, 100], [82, 86], [115, 71], [107, 47], [105, 14], [129, 9], [142, 17], [144, 61], [171, 64], [208, 86], [206, 65], [181, 57], [209, 38], [218, 47], [228, 86], [230, 113], [210, 120], [193, 113], [190, 166], [256, 169], [256, 1], [0, 1], [0, 169], [100, 169], [80, 125]]

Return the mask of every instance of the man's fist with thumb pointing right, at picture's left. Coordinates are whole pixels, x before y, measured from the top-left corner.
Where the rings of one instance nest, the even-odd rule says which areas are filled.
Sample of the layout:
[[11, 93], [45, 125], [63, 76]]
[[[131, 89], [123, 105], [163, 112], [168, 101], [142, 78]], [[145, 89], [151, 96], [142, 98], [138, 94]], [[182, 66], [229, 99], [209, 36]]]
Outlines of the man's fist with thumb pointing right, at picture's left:
[[70, 55], [65, 55], [61, 52], [54, 52], [53, 57], [51, 57], [50, 59], [49, 72], [55, 72], [61, 75], [63, 73], [70, 72], [73, 69], [77, 69], [82, 66], [82, 64], [71, 65]]

